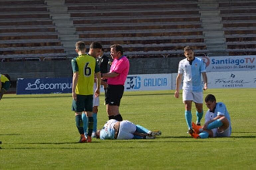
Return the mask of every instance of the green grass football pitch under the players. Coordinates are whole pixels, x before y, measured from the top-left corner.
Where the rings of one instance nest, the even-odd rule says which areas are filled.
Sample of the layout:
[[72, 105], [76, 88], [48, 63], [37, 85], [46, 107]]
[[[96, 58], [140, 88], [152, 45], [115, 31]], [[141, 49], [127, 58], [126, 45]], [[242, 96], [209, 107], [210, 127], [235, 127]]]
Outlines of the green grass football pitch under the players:
[[[0, 102], [0, 169], [256, 169], [256, 89], [208, 89], [226, 104], [230, 138], [193, 139], [182, 98], [174, 91], [125, 92], [120, 113], [150, 130], [155, 140], [93, 139], [77, 143], [71, 94], [7, 94]], [[107, 120], [100, 96], [98, 128]], [[207, 108], [203, 106], [204, 113]], [[193, 121], [195, 109], [192, 107]], [[204, 118], [203, 118], [204, 122]]]

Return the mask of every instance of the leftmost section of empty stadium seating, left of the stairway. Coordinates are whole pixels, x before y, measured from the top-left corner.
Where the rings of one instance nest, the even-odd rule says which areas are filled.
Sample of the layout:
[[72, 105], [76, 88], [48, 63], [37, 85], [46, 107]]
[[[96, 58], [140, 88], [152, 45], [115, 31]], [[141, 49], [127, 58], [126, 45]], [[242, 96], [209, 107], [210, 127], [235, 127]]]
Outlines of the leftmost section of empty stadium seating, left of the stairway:
[[0, 59], [66, 57], [44, 0], [0, 1]]

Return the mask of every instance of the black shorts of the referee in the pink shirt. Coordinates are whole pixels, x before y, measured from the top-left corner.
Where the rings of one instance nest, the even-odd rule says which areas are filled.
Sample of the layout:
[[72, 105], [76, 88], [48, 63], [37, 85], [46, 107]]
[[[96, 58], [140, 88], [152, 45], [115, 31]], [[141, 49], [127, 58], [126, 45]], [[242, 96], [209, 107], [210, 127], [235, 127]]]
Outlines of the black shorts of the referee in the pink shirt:
[[106, 89], [105, 103], [119, 106], [123, 93], [123, 85], [108, 85]]

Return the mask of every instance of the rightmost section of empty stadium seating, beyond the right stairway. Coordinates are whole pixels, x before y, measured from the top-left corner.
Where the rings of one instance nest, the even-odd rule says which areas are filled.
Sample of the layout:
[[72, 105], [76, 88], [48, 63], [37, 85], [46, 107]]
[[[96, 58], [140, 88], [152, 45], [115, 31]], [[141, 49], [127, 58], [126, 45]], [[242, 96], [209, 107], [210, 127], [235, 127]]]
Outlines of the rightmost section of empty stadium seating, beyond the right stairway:
[[229, 55], [256, 54], [256, 1], [219, 2]]

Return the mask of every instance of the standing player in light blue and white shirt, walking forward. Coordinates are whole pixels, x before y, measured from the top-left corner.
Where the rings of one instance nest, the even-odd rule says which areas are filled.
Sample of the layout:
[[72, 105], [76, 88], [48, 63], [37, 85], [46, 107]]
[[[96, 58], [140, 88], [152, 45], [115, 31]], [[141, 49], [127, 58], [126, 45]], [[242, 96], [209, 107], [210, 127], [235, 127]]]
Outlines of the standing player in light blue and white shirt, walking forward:
[[[174, 96], [179, 98], [180, 85], [183, 79], [182, 99], [185, 104], [185, 119], [189, 128], [188, 133], [192, 134], [192, 101], [195, 103], [197, 125], [203, 116], [203, 92], [207, 89], [207, 76], [205, 64], [202, 59], [194, 57], [193, 49], [189, 46], [184, 48], [185, 59], [179, 63], [178, 75], [176, 78], [176, 90]], [[203, 77], [204, 86], [202, 86], [201, 75]]]

